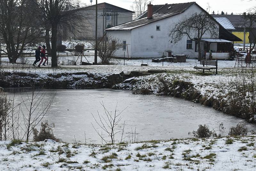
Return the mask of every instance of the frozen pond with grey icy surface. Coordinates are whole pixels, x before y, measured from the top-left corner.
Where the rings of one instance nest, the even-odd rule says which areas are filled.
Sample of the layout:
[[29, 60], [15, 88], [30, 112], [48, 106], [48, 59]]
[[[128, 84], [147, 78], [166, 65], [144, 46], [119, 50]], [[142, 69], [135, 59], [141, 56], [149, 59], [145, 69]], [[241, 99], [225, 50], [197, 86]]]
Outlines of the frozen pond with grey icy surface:
[[[44, 90], [41, 90], [42, 92]], [[30, 89], [5, 89], [9, 97], [16, 93], [16, 101], [31, 96]], [[26, 93], [27, 92], [27, 93]], [[109, 111], [114, 111], [116, 104], [118, 112], [122, 111], [119, 130], [124, 127], [124, 137], [132, 137], [132, 130], [136, 127], [136, 134], [141, 140], [170, 139], [189, 137], [188, 132], [196, 130], [199, 124], [206, 124], [218, 132], [218, 125], [223, 122], [225, 134], [231, 126], [244, 120], [220, 113], [210, 107], [195, 104], [175, 97], [156, 95], [135, 95], [131, 91], [110, 89], [84, 90], [53, 90], [47, 89], [46, 99], [56, 92], [51, 111], [45, 117], [50, 123], [55, 123], [54, 135], [66, 142], [100, 143], [101, 138], [93, 129], [96, 125], [92, 114], [97, 118], [97, 111], [104, 113], [100, 102], [103, 101]], [[252, 125], [247, 125], [253, 129]], [[101, 131], [100, 131], [101, 132]], [[106, 134], [103, 132], [103, 136]], [[120, 141], [121, 133], [116, 135]], [[133, 135], [134, 137], [134, 135]]]

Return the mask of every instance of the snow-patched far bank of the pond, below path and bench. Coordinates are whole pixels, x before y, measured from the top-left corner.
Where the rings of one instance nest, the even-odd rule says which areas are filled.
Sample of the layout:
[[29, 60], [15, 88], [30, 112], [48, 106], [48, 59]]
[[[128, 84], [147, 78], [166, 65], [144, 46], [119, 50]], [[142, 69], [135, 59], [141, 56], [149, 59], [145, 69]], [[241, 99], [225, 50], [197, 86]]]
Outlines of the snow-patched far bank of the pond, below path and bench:
[[[131, 68], [130, 68], [131, 69]], [[146, 68], [145, 68], [146, 69]], [[242, 111], [233, 112], [228, 104], [230, 71], [222, 69], [219, 75], [201, 74], [188, 69], [142, 70], [128, 73], [49, 72], [31, 74], [5, 72], [0, 75], [2, 87], [44, 87], [48, 89], [109, 88], [129, 89], [140, 94], [179, 97], [200, 103], [226, 114], [250, 120]]]

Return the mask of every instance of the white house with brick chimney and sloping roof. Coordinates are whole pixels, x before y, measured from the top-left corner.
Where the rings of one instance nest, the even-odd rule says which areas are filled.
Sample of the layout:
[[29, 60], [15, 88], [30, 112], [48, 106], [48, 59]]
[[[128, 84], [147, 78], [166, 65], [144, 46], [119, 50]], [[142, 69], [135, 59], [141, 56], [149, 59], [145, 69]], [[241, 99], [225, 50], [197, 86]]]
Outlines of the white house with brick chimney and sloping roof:
[[[105, 31], [108, 37], [117, 38], [123, 43], [123, 48], [116, 51], [116, 57], [153, 58], [161, 57], [163, 53], [165, 56], [183, 53], [197, 57], [198, 48], [195, 41], [184, 36], [179, 43], [174, 44], [168, 36], [175, 23], [190, 17], [191, 14], [196, 12], [207, 13], [196, 2], [164, 5], [148, 4], [148, 11], [137, 19], [108, 28]], [[213, 58], [227, 58], [227, 56], [230, 56], [233, 42], [240, 41], [240, 39], [229, 33], [213, 17], [212, 19], [219, 29], [219, 37], [210, 37], [210, 35], [204, 34], [204, 39], [201, 41], [202, 54], [209, 55], [208, 52], [212, 51]], [[225, 47], [225, 51], [222, 50], [223, 47]]]

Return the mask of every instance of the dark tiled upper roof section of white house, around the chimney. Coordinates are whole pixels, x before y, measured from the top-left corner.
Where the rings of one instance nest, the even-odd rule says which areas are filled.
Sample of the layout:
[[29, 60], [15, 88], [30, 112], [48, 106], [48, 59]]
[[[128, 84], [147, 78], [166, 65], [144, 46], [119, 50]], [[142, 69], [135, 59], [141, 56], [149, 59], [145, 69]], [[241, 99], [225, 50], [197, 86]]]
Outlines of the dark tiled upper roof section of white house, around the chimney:
[[[193, 4], [196, 4], [196, 2], [153, 5], [153, 14], [182, 13], [186, 11]], [[148, 11], [145, 11], [137, 19], [142, 19], [147, 16], [148, 16]]]

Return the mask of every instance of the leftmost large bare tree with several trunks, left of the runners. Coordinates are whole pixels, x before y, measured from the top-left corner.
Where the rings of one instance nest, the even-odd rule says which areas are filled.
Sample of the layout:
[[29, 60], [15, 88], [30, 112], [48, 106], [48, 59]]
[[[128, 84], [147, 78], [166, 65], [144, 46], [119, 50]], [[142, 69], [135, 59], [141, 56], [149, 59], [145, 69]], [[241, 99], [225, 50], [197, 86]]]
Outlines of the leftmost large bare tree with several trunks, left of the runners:
[[0, 35], [6, 44], [9, 61], [16, 63], [25, 45], [43, 34], [35, 19], [33, 0], [0, 0]]

